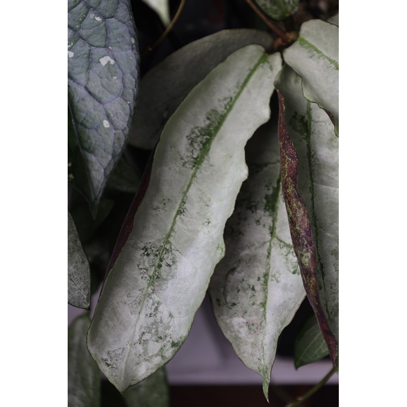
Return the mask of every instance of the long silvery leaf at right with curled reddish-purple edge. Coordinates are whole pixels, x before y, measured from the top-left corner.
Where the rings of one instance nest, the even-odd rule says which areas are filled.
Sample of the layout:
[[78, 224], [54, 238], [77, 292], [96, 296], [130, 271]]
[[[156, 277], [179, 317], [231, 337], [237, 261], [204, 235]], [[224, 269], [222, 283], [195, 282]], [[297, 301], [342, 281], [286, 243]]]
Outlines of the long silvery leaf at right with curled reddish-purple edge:
[[[301, 78], [281, 71], [280, 152], [283, 193], [304, 287], [338, 362], [338, 141], [325, 112], [303, 98]], [[283, 110], [285, 109], [285, 114]]]

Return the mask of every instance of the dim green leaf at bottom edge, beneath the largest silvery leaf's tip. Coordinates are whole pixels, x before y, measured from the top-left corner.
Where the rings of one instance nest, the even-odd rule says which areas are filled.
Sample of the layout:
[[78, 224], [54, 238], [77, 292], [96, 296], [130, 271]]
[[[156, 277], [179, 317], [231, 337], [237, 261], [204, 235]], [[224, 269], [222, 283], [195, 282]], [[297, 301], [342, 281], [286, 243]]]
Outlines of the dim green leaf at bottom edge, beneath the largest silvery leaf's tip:
[[127, 407], [169, 407], [169, 389], [164, 368], [123, 394]]

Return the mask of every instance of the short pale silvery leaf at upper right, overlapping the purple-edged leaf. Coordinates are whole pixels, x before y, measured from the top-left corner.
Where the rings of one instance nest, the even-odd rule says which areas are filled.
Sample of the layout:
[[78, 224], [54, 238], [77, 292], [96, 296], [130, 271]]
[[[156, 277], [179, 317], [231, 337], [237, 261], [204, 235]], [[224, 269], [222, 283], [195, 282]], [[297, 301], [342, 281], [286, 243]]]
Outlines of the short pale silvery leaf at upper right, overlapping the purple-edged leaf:
[[283, 51], [284, 61], [302, 78], [306, 99], [333, 115], [339, 136], [339, 28], [321, 20], [302, 24], [300, 37]]

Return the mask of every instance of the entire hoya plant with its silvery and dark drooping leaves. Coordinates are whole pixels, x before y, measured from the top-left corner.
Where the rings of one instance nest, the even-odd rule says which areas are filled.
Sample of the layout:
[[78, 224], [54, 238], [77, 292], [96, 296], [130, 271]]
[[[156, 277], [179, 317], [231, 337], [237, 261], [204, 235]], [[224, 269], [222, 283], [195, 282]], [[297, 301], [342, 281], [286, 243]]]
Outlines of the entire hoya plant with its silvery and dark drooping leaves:
[[128, 406], [168, 405], [163, 366], [207, 292], [266, 398], [305, 297], [295, 366], [338, 372], [337, 9], [229, 0], [251, 25], [155, 62], [185, 3], [68, 0], [68, 303], [103, 284], [68, 330], [72, 406], [100, 405], [100, 372]]

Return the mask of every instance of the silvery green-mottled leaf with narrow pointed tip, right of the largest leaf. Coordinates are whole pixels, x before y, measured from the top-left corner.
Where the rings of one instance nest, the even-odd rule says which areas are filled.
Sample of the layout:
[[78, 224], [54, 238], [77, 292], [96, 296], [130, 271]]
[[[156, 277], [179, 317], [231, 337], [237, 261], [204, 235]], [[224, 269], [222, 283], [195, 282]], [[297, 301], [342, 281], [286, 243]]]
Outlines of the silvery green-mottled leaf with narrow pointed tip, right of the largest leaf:
[[[277, 116], [276, 116], [277, 118]], [[249, 177], [224, 232], [210, 284], [217, 322], [268, 398], [277, 339], [305, 297], [281, 192], [277, 120], [248, 141]]]

